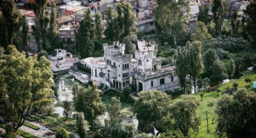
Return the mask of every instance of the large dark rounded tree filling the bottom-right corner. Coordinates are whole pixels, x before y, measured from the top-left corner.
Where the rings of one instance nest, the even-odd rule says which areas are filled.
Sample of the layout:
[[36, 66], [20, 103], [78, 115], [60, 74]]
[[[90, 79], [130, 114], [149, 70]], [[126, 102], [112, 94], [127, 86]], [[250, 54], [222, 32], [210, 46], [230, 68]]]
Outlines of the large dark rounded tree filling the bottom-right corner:
[[217, 131], [225, 137], [254, 137], [256, 94], [245, 88], [223, 95], [217, 102]]

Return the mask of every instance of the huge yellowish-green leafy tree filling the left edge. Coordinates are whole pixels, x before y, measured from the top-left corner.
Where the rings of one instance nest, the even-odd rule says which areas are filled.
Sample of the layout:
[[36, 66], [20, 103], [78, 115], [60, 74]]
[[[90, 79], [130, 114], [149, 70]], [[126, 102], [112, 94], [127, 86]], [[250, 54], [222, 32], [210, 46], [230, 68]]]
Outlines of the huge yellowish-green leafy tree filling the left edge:
[[0, 59], [0, 116], [17, 131], [33, 109], [53, 100], [51, 61], [27, 57], [14, 46], [6, 53]]

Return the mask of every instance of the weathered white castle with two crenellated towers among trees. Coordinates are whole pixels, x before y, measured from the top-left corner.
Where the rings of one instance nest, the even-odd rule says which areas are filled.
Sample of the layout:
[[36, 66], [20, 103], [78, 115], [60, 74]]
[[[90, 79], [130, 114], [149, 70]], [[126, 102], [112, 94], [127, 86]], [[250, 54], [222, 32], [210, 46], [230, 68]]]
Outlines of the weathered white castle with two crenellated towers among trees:
[[86, 58], [80, 61], [91, 70], [91, 80], [110, 88], [122, 90], [134, 85], [139, 91], [170, 91], [178, 86], [178, 76], [172, 65], [161, 66], [161, 59], [154, 55], [155, 43], [138, 40], [139, 50], [125, 54], [125, 44], [114, 41], [104, 44], [104, 57]]

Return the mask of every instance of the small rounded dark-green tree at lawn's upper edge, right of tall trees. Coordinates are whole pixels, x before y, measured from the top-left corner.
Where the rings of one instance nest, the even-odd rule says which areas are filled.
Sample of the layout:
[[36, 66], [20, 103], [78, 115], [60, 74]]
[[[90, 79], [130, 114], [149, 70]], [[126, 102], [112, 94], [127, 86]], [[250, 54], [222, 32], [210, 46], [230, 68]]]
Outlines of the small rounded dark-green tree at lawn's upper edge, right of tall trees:
[[226, 68], [222, 61], [216, 60], [213, 62], [213, 69], [211, 80], [219, 83], [222, 80], [226, 79], [228, 75], [226, 74]]

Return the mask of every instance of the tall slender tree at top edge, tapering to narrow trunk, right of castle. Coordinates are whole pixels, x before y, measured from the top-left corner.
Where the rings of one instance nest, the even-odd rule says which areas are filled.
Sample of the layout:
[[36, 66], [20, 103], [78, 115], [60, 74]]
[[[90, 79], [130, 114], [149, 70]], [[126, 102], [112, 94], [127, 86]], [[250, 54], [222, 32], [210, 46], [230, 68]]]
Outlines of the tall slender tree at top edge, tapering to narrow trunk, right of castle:
[[215, 23], [215, 35], [219, 35], [222, 31], [223, 16], [227, 11], [226, 3], [223, 0], [213, 1], [213, 22]]

